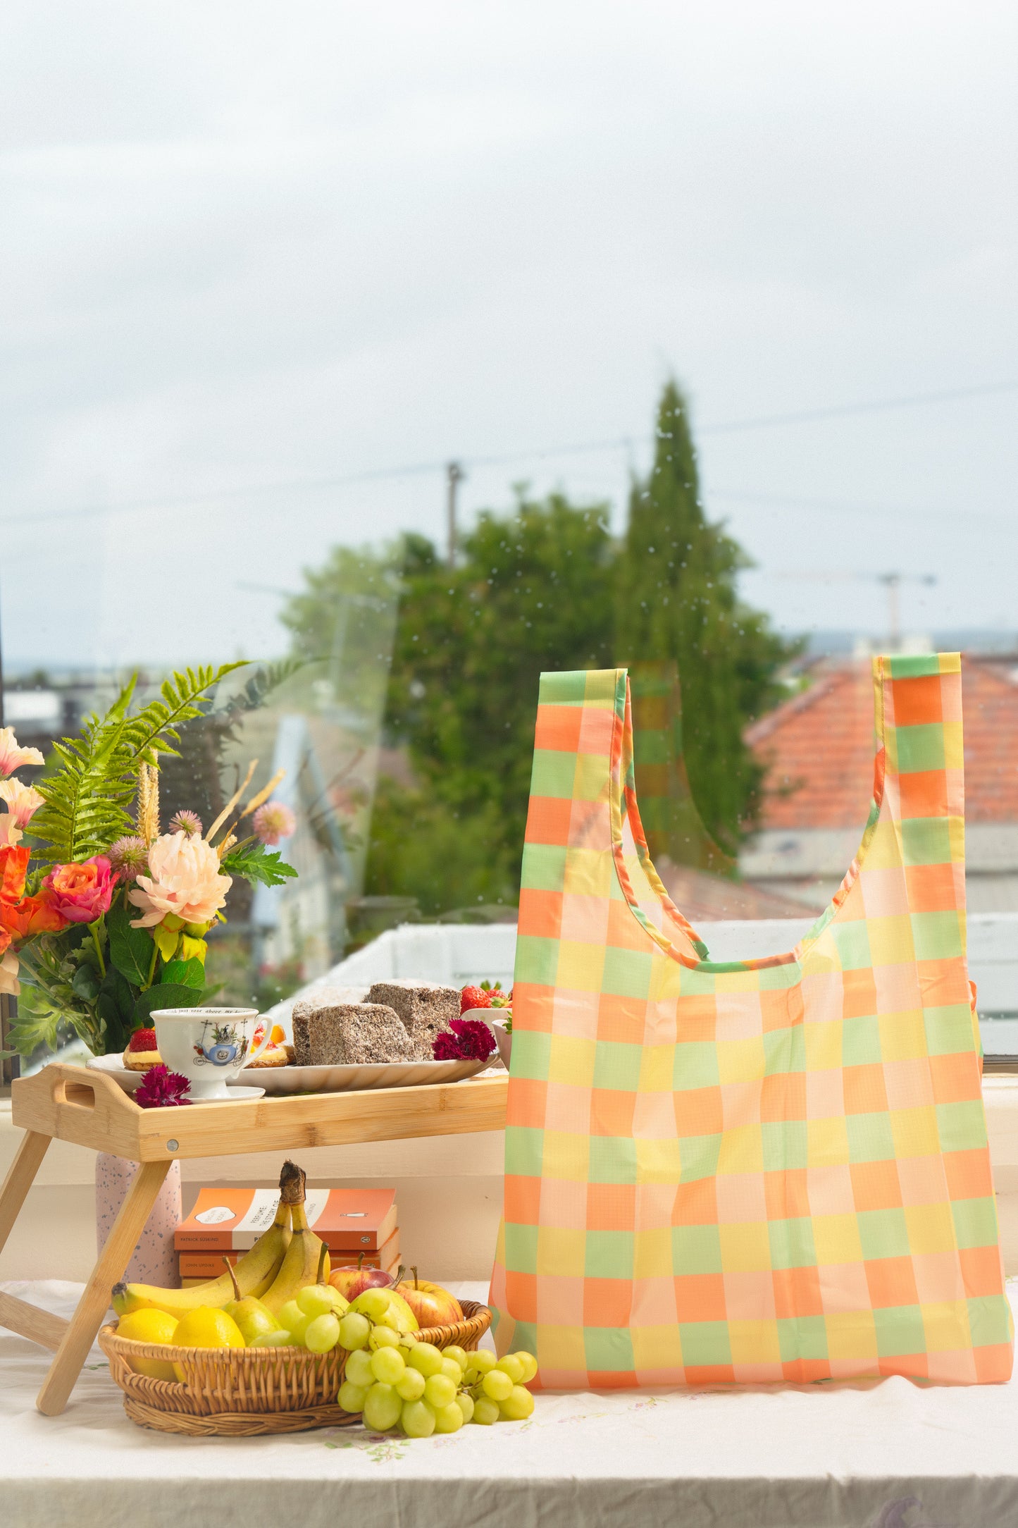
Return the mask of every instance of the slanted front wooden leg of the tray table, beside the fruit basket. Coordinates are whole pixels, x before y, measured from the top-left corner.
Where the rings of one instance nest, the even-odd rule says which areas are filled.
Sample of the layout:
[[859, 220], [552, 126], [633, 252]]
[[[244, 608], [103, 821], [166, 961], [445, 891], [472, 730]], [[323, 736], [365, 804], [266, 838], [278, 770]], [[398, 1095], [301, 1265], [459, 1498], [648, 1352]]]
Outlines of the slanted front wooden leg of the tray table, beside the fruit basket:
[[110, 1239], [92, 1270], [85, 1293], [78, 1302], [78, 1309], [72, 1316], [63, 1342], [56, 1349], [56, 1357], [50, 1365], [43, 1389], [35, 1398], [35, 1404], [43, 1415], [56, 1416], [67, 1404], [67, 1397], [75, 1387], [75, 1381], [89, 1357], [89, 1349], [110, 1308], [110, 1290], [131, 1261], [137, 1238], [142, 1235], [145, 1221], [159, 1198], [159, 1190], [168, 1172], [168, 1161], [143, 1161], [137, 1169], [137, 1177], [128, 1189], [127, 1198], [121, 1206], [121, 1213], [113, 1222]]

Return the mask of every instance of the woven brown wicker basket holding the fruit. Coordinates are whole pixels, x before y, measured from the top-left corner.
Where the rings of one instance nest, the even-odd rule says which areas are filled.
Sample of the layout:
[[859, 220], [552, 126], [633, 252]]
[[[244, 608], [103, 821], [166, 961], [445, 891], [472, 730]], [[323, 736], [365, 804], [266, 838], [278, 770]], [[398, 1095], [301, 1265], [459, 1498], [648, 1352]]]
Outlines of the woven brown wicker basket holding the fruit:
[[[417, 1334], [420, 1340], [437, 1348], [453, 1343], [476, 1348], [491, 1323], [491, 1313], [473, 1300], [461, 1300], [461, 1322], [423, 1328]], [[327, 1354], [305, 1348], [172, 1348], [118, 1337], [116, 1326], [102, 1328], [99, 1345], [110, 1360], [110, 1374], [124, 1390], [127, 1415], [143, 1427], [238, 1438], [357, 1421], [336, 1404], [346, 1363], [342, 1348]], [[133, 1358], [179, 1363], [185, 1383], [136, 1374]]]

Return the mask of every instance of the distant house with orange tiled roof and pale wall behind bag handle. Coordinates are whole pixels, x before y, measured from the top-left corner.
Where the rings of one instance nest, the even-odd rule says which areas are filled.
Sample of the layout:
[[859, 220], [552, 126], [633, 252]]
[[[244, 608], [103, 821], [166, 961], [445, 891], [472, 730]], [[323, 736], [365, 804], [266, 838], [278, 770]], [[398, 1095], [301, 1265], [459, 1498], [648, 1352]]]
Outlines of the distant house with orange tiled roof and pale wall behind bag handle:
[[[1018, 912], [1018, 683], [1013, 660], [963, 657], [965, 847], [971, 912]], [[766, 767], [745, 882], [823, 909], [841, 885], [873, 795], [868, 662], [829, 662], [746, 733]]]

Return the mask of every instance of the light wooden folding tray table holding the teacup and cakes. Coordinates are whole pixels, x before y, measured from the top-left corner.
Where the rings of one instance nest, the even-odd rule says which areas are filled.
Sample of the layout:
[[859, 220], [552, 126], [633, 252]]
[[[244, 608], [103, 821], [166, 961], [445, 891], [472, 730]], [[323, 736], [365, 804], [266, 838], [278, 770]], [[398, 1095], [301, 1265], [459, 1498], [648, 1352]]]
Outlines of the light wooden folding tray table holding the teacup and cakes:
[[0, 1190], [0, 1250], [18, 1218], [52, 1140], [73, 1141], [140, 1163], [110, 1238], [72, 1319], [0, 1293], [0, 1326], [50, 1348], [55, 1358], [35, 1404], [56, 1416], [67, 1404], [110, 1291], [124, 1276], [169, 1164], [186, 1157], [235, 1157], [252, 1151], [298, 1152], [308, 1146], [464, 1135], [505, 1126], [507, 1076], [424, 1088], [377, 1088], [142, 1109], [113, 1077], [52, 1063], [11, 1088], [14, 1125], [24, 1138]]

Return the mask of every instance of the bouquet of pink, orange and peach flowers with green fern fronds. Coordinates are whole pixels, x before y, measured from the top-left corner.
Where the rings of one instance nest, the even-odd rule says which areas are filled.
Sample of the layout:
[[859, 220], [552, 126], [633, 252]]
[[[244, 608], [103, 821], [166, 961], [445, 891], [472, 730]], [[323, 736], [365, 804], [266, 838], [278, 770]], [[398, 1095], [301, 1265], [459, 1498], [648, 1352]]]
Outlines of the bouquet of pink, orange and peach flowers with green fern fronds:
[[61, 1024], [96, 1056], [122, 1051], [153, 1010], [197, 1005], [206, 935], [226, 921], [234, 877], [275, 886], [296, 876], [267, 850], [293, 831], [290, 810], [269, 801], [281, 773], [241, 805], [256, 759], [208, 831], [185, 810], [160, 830], [159, 758], [177, 755], [180, 729], [240, 666], [174, 674], [130, 714], [133, 678], [105, 717], [53, 746], [55, 769], [35, 785], [14, 770], [43, 755], [0, 729], [0, 992], [27, 987], [15, 1053], [55, 1050]]

